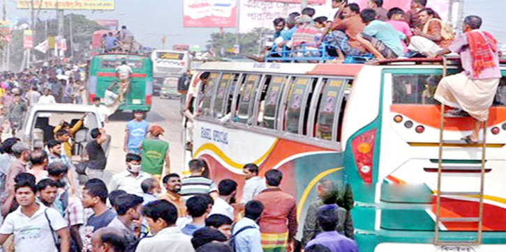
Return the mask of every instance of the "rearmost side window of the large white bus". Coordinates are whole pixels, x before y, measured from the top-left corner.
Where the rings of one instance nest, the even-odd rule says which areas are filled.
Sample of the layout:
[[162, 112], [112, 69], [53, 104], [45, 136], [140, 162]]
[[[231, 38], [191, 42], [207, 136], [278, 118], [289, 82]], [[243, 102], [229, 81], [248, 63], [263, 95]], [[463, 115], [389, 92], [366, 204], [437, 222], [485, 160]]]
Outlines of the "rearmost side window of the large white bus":
[[322, 93], [316, 113], [316, 138], [329, 141], [337, 140], [338, 120], [336, 119], [338, 117], [336, 117], [336, 113], [341, 113], [340, 105], [347, 85], [348, 81], [345, 79], [323, 79]]

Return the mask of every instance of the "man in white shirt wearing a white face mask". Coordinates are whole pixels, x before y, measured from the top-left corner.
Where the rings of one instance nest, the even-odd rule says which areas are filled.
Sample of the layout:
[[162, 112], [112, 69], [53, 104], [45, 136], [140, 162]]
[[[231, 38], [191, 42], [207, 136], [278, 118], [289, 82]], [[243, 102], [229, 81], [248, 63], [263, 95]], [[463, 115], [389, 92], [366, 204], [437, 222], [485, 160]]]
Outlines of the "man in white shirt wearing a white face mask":
[[142, 197], [144, 191], [140, 186], [142, 182], [151, 178], [149, 173], [140, 171], [140, 155], [128, 153], [126, 155], [126, 171], [112, 176], [109, 182], [109, 191], [123, 190], [127, 194]]

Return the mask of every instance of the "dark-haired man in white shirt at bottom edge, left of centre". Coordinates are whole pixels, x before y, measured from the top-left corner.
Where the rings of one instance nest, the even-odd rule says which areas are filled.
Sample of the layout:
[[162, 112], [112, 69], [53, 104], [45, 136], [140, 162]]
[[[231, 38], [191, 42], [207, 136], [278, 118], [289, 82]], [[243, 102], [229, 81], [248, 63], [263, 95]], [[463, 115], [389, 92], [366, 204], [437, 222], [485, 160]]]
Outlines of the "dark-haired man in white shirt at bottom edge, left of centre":
[[135, 252], [193, 252], [191, 237], [176, 226], [177, 209], [166, 200], [148, 203], [142, 209], [154, 237], [141, 239]]

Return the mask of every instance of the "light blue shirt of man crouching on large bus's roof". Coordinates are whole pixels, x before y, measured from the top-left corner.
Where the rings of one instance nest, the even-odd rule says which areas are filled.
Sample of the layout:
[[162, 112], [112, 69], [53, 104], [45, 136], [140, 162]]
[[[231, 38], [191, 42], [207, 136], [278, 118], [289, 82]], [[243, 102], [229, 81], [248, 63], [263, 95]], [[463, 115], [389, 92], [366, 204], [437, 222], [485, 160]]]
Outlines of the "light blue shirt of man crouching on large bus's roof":
[[403, 55], [401, 40], [405, 39], [406, 36], [394, 29], [394, 26], [380, 20], [373, 20], [364, 28], [364, 33], [383, 42], [397, 56]]

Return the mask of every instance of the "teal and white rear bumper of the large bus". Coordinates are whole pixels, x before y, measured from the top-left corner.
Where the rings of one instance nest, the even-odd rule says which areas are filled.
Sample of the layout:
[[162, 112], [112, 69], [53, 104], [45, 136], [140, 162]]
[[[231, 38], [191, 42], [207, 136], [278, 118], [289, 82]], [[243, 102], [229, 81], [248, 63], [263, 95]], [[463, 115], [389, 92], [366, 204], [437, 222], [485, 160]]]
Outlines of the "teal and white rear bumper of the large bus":
[[[472, 241], [476, 232], [448, 232], [442, 233], [440, 239], [452, 245], [433, 244], [434, 232], [409, 230], [379, 230], [371, 232], [355, 230], [355, 241], [359, 244], [361, 252], [491, 252], [506, 251], [506, 232], [482, 233], [482, 244], [466, 245], [464, 241]], [[459, 242], [459, 245], [454, 245]]]

